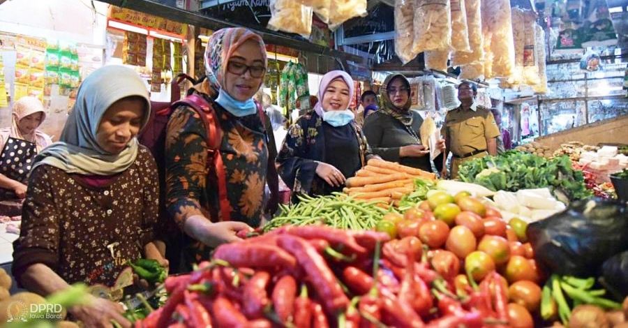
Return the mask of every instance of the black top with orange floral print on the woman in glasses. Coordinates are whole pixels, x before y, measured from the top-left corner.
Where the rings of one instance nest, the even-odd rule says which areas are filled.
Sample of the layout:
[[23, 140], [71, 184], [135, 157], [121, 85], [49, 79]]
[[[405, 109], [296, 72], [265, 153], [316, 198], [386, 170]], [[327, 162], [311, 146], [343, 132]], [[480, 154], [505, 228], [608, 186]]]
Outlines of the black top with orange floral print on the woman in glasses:
[[[267, 132], [256, 114], [235, 117], [206, 97], [220, 122], [220, 156], [227, 181], [230, 218], [257, 227], [264, 209], [268, 165]], [[167, 126], [167, 210], [183, 228], [187, 218], [202, 215], [220, 221], [218, 184], [210, 173], [207, 130], [202, 118], [190, 107], [180, 106]], [[209, 164], [211, 165], [211, 164]], [[213, 172], [213, 171], [211, 171]], [[211, 249], [186, 237], [188, 264], [207, 260]]]

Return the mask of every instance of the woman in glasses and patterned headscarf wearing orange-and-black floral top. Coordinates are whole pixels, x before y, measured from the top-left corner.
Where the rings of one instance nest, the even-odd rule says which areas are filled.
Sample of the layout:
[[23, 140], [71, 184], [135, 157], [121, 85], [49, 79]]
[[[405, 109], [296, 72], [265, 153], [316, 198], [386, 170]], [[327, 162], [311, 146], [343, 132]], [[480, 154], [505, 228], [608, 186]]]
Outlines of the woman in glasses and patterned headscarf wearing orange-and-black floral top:
[[[253, 100], [266, 74], [264, 41], [248, 29], [221, 29], [204, 59], [207, 81], [195, 87], [195, 98], [216, 113], [220, 154], [208, 167], [207, 145], [214, 140], [188, 105], [174, 110], [166, 137], [166, 206], [190, 237], [193, 252], [185, 264], [209, 258], [212, 247], [238, 240], [236, 232], [260, 225], [265, 212], [276, 209], [264, 197], [267, 181], [271, 187], [278, 179], [273, 131]], [[223, 170], [214, 174], [214, 167]]]

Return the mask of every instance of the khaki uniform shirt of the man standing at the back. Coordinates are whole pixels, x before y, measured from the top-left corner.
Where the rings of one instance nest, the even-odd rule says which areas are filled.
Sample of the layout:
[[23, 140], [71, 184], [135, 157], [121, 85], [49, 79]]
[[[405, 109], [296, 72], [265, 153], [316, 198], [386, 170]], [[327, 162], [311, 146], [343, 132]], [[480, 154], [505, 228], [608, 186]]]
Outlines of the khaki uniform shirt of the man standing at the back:
[[461, 105], [447, 113], [442, 135], [449, 140], [449, 150], [454, 155], [464, 156], [472, 151], [488, 150], [486, 140], [499, 137], [501, 133], [490, 110], [481, 106], [475, 111], [463, 110]]

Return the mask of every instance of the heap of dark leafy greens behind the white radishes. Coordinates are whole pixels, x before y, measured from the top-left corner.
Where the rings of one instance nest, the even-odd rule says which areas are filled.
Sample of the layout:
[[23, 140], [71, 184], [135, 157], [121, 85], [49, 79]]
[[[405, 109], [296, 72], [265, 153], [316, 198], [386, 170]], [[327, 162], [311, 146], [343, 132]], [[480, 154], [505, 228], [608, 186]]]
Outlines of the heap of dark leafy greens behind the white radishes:
[[465, 182], [479, 184], [492, 191], [551, 187], [555, 195], [565, 194], [569, 200], [590, 197], [581, 171], [571, 167], [569, 157], [547, 159], [520, 151], [507, 151], [486, 156], [461, 165], [458, 172]]

